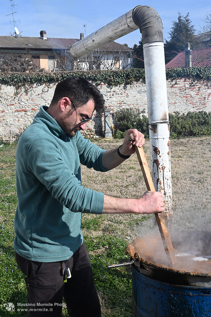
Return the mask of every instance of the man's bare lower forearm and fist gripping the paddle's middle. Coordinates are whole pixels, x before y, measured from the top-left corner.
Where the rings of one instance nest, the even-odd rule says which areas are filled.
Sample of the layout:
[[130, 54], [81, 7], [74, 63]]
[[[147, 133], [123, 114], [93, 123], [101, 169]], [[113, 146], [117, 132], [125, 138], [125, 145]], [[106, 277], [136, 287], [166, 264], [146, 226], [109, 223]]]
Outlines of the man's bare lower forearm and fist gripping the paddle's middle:
[[146, 191], [139, 199], [116, 198], [105, 195], [103, 213], [154, 214], [164, 211], [164, 199], [159, 191]]

